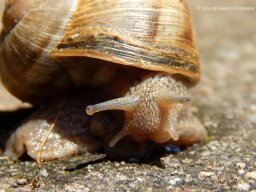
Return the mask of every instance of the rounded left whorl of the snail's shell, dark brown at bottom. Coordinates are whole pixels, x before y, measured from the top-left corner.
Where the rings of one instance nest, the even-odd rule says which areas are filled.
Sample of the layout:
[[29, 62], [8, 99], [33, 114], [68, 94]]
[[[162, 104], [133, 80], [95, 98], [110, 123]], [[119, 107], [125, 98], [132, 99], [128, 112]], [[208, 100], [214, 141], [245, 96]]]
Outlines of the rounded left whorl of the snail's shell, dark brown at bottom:
[[[27, 1], [15, 1], [14, 5], [23, 2]], [[19, 22], [12, 22], [9, 16], [14, 8], [5, 11], [5, 17], [10, 19], [5, 22], [7, 30], [0, 47], [1, 78], [15, 96], [41, 103], [71, 88], [66, 70], [51, 57], [51, 51], [63, 36], [76, 3], [38, 1], [34, 8], [32, 4], [27, 12], [22, 11]]]

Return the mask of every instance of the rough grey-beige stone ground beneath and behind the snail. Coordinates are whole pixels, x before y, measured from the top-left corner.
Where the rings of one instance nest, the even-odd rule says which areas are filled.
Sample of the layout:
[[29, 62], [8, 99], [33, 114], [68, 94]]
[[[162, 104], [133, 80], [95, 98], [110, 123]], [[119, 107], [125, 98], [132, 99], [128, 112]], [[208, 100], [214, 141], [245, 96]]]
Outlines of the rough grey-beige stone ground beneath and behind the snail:
[[85, 154], [39, 169], [33, 161], [0, 157], [1, 192], [256, 191], [256, 2], [188, 3], [202, 61], [191, 94], [209, 139], [144, 163]]

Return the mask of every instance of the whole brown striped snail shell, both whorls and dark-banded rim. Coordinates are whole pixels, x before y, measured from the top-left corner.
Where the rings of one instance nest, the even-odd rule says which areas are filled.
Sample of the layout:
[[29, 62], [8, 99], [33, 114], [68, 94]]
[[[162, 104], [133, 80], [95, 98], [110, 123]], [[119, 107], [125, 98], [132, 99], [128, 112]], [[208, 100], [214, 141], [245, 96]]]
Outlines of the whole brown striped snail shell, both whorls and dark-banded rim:
[[72, 89], [76, 82], [62, 61], [77, 58], [88, 79], [98, 67], [93, 58], [195, 84], [199, 59], [190, 20], [182, 0], [8, 0], [0, 75], [11, 93], [32, 103]]

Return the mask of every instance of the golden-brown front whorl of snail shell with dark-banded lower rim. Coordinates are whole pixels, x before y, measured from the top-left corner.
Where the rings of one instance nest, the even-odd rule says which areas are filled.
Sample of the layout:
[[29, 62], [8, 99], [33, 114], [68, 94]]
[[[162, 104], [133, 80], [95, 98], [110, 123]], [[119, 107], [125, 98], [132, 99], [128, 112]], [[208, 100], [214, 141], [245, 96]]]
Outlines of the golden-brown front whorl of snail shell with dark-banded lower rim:
[[190, 15], [181, 0], [80, 0], [55, 57], [87, 56], [199, 80]]

